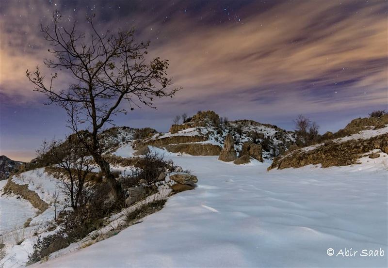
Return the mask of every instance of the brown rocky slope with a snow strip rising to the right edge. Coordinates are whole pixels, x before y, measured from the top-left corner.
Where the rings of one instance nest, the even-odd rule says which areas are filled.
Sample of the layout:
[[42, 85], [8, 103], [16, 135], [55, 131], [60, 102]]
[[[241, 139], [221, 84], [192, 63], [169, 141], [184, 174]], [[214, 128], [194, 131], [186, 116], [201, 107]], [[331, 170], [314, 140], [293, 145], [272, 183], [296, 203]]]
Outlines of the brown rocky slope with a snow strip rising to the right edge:
[[355, 119], [344, 129], [330, 135], [331, 139], [275, 158], [269, 169], [299, 168], [309, 164], [347, 166], [359, 163], [361, 157], [385, 157], [381, 153], [388, 153], [388, 125], [384, 124], [388, 124], [388, 115]]

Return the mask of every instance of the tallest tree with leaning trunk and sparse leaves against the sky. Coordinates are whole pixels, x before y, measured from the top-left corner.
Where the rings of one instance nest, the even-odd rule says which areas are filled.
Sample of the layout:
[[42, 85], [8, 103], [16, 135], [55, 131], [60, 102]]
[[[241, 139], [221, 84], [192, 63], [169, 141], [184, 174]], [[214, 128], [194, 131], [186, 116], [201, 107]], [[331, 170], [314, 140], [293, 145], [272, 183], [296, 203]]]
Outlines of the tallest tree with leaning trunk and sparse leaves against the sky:
[[[154, 97], [172, 97], [177, 88], [167, 90], [171, 78], [166, 77], [168, 61], [159, 57], [147, 62], [149, 41], [137, 43], [134, 30], [97, 32], [93, 17], [87, 18], [90, 27], [89, 39], [85, 33], [76, 31], [76, 22], [70, 29], [60, 25], [61, 15], [54, 13], [53, 26], [43, 27], [45, 40], [51, 48], [52, 59], [45, 59], [48, 68], [67, 71], [72, 83], [67, 88], [55, 90], [54, 80], [58, 74], [51, 73], [49, 81], [39, 67], [34, 72], [26, 71], [35, 91], [49, 98], [47, 104], [55, 103], [64, 108], [69, 127], [78, 133], [80, 141], [99, 165], [113, 191], [116, 201], [124, 198], [121, 185], [116, 182], [109, 163], [102, 157], [98, 133], [106, 124], [113, 124], [112, 116], [127, 113], [123, 103], [140, 107], [141, 104], [155, 108]], [[89, 40], [89, 41], [88, 41]], [[80, 134], [87, 127], [88, 135]]]

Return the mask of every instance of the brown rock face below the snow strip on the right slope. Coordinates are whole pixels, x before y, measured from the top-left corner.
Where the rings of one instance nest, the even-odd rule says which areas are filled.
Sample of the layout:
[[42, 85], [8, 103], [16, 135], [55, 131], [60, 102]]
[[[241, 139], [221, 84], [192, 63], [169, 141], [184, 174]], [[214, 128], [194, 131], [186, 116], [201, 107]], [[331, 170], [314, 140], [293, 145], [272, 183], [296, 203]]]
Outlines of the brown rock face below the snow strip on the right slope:
[[298, 149], [286, 156], [275, 158], [268, 170], [299, 168], [309, 164], [322, 164], [323, 168], [347, 166], [356, 164], [358, 158], [374, 149], [388, 153], [388, 134], [375, 136], [368, 140], [349, 140], [341, 143], [326, 142], [309, 151]]

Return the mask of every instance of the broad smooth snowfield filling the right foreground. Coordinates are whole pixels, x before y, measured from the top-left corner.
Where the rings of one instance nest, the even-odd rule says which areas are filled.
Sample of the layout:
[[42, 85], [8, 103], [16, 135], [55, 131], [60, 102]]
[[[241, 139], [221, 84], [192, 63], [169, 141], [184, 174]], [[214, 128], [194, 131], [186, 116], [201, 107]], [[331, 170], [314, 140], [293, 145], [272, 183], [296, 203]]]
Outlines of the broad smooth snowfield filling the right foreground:
[[197, 175], [198, 187], [116, 236], [35, 266], [387, 267], [386, 154], [270, 172], [268, 163], [164, 156]]

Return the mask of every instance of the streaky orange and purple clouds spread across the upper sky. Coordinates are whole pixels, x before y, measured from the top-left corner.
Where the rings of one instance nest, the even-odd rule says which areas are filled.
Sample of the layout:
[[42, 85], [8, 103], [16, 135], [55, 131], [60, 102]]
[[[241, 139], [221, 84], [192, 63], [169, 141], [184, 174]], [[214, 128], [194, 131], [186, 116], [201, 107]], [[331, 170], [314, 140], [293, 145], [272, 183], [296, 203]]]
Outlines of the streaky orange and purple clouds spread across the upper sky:
[[[6, 18], [0, 24], [1, 94], [14, 96], [17, 103], [36, 96], [24, 72], [47, 56], [38, 25], [50, 22], [54, 6], [36, 3], [8, 5], [1, 11]], [[156, 2], [156, 15], [140, 2], [115, 2], [115, 10], [122, 5], [117, 14], [109, 12], [110, 3], [77, 5], [75, 12], [64, 3], [58, 6], [64, 18], [78, 19], [81, 29], [86, 27], [82, 17], [94, 8], [99, 29], [134, 25], [139, 39], [155, 41], [151, 56], [169, 59], [169, 75], [175, 86], [184, 88], [174, 99], [159, 102], [164, 112], [171, 105], [187, 109], [188, 103], [194, 110], [208, 106], [279, 115], [386, 103], [384, 2], [276, 2], [259, 12], [257, 2], [249, 2], [238, 10], [244, 15], [241, 22], [220, 24], [204, 13], [217, 8], [211, 1], [191, 15], [181, 12], [184, 2]], [[204, 22], [198, 19], [202, 13]], [[62, 79], [65, 85], [67, 78]]]

